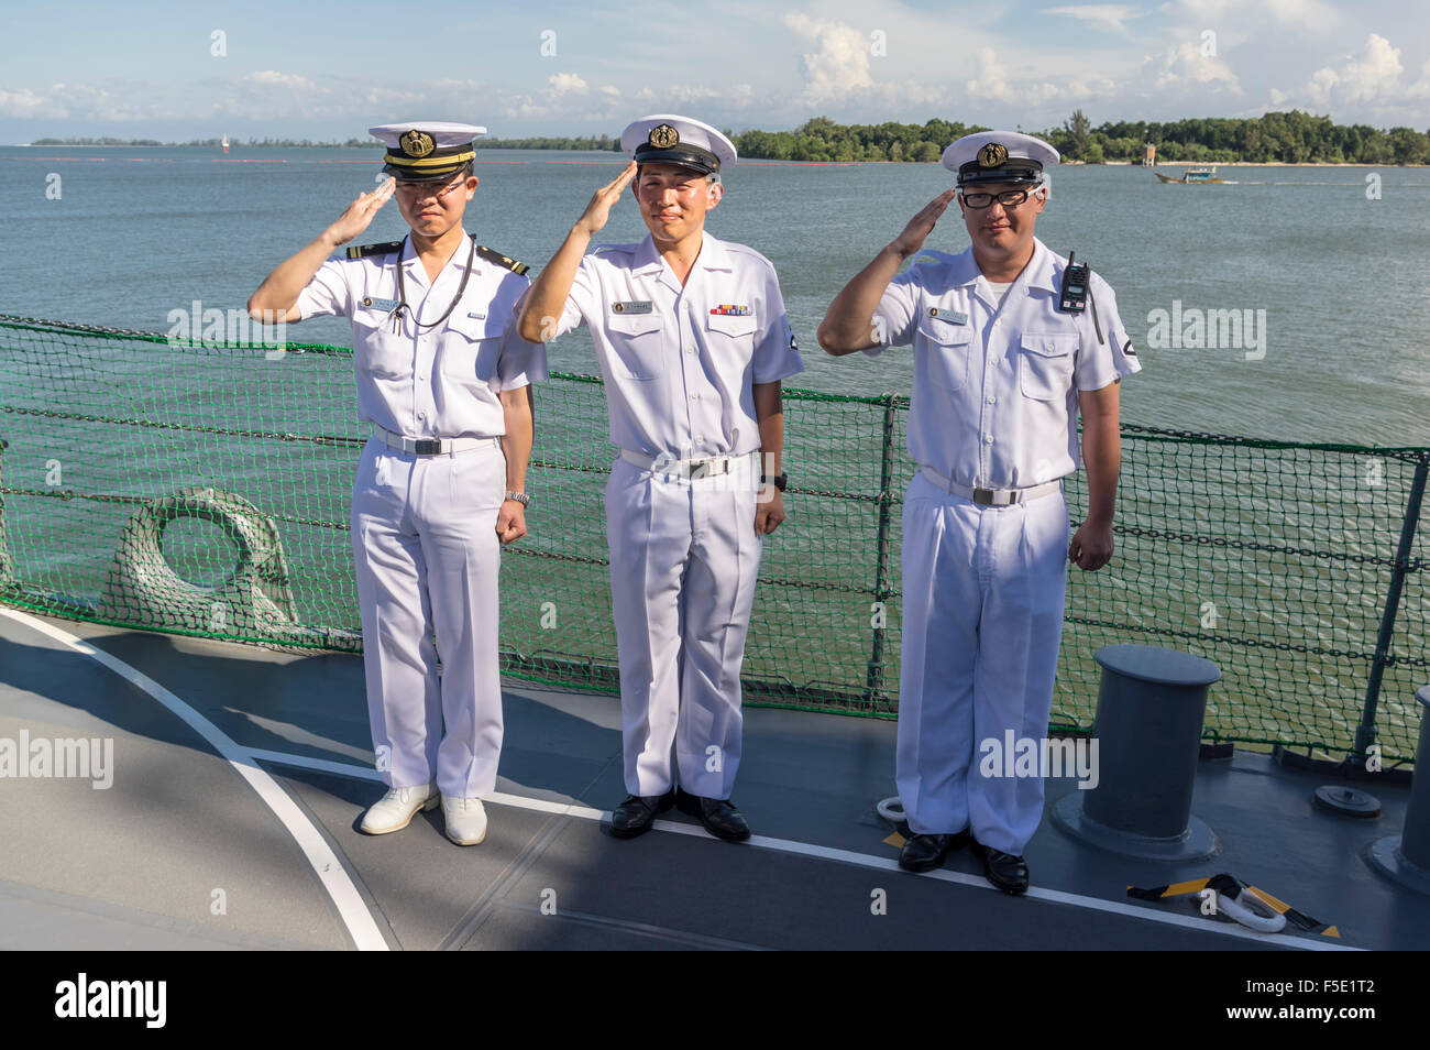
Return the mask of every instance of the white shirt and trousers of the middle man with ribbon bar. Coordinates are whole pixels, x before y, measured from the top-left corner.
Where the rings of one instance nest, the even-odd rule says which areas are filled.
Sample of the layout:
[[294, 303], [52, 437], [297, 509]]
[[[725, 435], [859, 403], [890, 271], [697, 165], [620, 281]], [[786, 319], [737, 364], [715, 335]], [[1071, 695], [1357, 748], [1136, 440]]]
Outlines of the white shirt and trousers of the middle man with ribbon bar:
[[[625, 784], [729, 798], [741, 757], [739, 669], [755, 595], [759, 425], [754, 383], [804, 371], [769, 260], [704, 235], [685, 286], [646, 236], [581, 260], [556, 335], [591, 326], [611, 441], [611, 598]], [[744, 456], [689, 479], [671, 461]], [[718, 750], [716, 750], [718, 748]]]

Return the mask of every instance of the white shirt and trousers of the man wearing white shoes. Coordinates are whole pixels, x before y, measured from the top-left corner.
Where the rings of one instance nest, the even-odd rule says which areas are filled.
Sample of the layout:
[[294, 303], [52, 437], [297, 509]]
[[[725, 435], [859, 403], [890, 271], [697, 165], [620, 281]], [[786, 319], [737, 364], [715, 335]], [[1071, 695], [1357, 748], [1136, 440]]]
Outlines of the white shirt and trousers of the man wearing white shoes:
[[[430, 323], [452, 302], [470, 247], [465, 237], [429, 285], [410, 237], [403, 240], [409, 309], [400, 333], [388, 316], [398, 296], [396, 253], [335, 255], [303, 289], [303, 318], [352, 319], [363, 421], [409, 438], [498, 438], [506, 429], [499, 392], [546, 378], [545, 349], [516, 335], [513, 306], [531, 282], [479, 255], [446, 322], [416, 328], [413, 316]], [[352, 544], [368, 714], [389, 787], [435, 780], [439, 791], [462, 798], [496, 787], [496, 515], [505, 492], [496, 442], [439, 455], [402, 452], [380, 438], [363, 446]]]

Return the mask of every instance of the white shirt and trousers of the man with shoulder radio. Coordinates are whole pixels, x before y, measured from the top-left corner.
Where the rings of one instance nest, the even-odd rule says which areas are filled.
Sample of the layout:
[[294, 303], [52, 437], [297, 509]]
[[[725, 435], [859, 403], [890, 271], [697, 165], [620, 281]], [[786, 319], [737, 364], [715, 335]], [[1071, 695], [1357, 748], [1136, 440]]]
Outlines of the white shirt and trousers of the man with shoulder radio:
[[1141, 365], [1097, 273], [1093, 306], [1057, 310], [1067, 259], [1041, 240], [1001, 306], [974, 260], [924, 252], [875, 313], [884, 346], [914, 345], [904, 501], [902, 671], [895, 777], [915, 834], [971, 827], [1021, 855], [1042, 817], [1042, 781], [984, 777], [985, 740], [1047, 735], [1062, 635], [1070, 524], [1061, 488], [1011, 506], [977, 505], [924, 468], [968, 488], [1052, 482], [1081, 463], [1078, 391]]

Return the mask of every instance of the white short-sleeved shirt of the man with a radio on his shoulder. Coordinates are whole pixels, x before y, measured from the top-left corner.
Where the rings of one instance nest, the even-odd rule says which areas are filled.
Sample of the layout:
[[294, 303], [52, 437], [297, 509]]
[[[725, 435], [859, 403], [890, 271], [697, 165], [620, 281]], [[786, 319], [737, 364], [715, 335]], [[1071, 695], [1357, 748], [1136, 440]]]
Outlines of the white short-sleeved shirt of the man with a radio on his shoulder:
[[1141, 369], [1111, 286], [1094, 272], [1088, 308], [1060, 312], [1067, 259], [1034, 239], [1000, 305], [971, 247], [924, 256], [889, 283], [874, 315], [879, 346], [865, 350], [914, 346], [909, 455], [977, 488], [1027, 488], [1077, 471], [1078, 391]]

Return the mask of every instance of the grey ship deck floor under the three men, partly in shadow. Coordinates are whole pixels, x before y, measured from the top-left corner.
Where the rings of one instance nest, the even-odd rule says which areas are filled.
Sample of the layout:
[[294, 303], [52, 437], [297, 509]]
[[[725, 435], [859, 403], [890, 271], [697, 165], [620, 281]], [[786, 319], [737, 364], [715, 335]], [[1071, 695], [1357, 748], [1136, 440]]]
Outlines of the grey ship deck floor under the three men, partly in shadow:
[[[618, 841], [589, 813], [533, 805], [609, 810], [622, 798], [619, 701], [509, 681], [498, 790], [518, 798], [489, 801], [486, 841], [462, 848], [442, 835], [440, 811], [392, 835], [356, 830], [382, 793], [360, 658], [47, 622], [149, 675], [240, 747], [289, 755], [262, 765], [335, 850], [392, 948], [1296, 946], [1228, 936], [1226, 920], [1203, 918], [1188, 898], [1125, 897], [1128, 884], [1218, 871], [1341, 933], [1303, 936], [1307, 944], [1430, 947], [1430, 898], [1383, 880], [1360, 855], [1400, 831], [1407, 791], [1390, 784], [1371, 788], [1383, 815], [1357, 821], [1313, 807], [1324, 775], [1246, 752], [1203, 762], [1193, 811], [1220, 837], [1221, 855], [1125, 860], [1045, 817], [1027, 850], [1034, 894], [1010, 898], [968, 853], [952, 854], [940, 877], [897, 870], [891, 828], [874, 808], [895, 793], [889, 721], [751, 708], [735, 801], [756, 838], [721, 843], [672, 813], [645, 837]], [[109, 790], [0, 781], [0, 948], [353, 944], [293, 835], [206, 740], [93, 658], [0, 617], [0, 737], [21, 730], [31, 740], [113, 737], [116, 772]], [[342, 771], [302, 765], [312, 760]], [[1048, 807], [1068, 791], [1072, 781], [1050, 781]], [[819, 848], [855, 855], [814, 855]], [[214, 914], [219, 890], [225, 910]], [[887, 914], [871, 913], [877, 890]], [[1077, 897], [1038, 896], [1048, 891]]]

